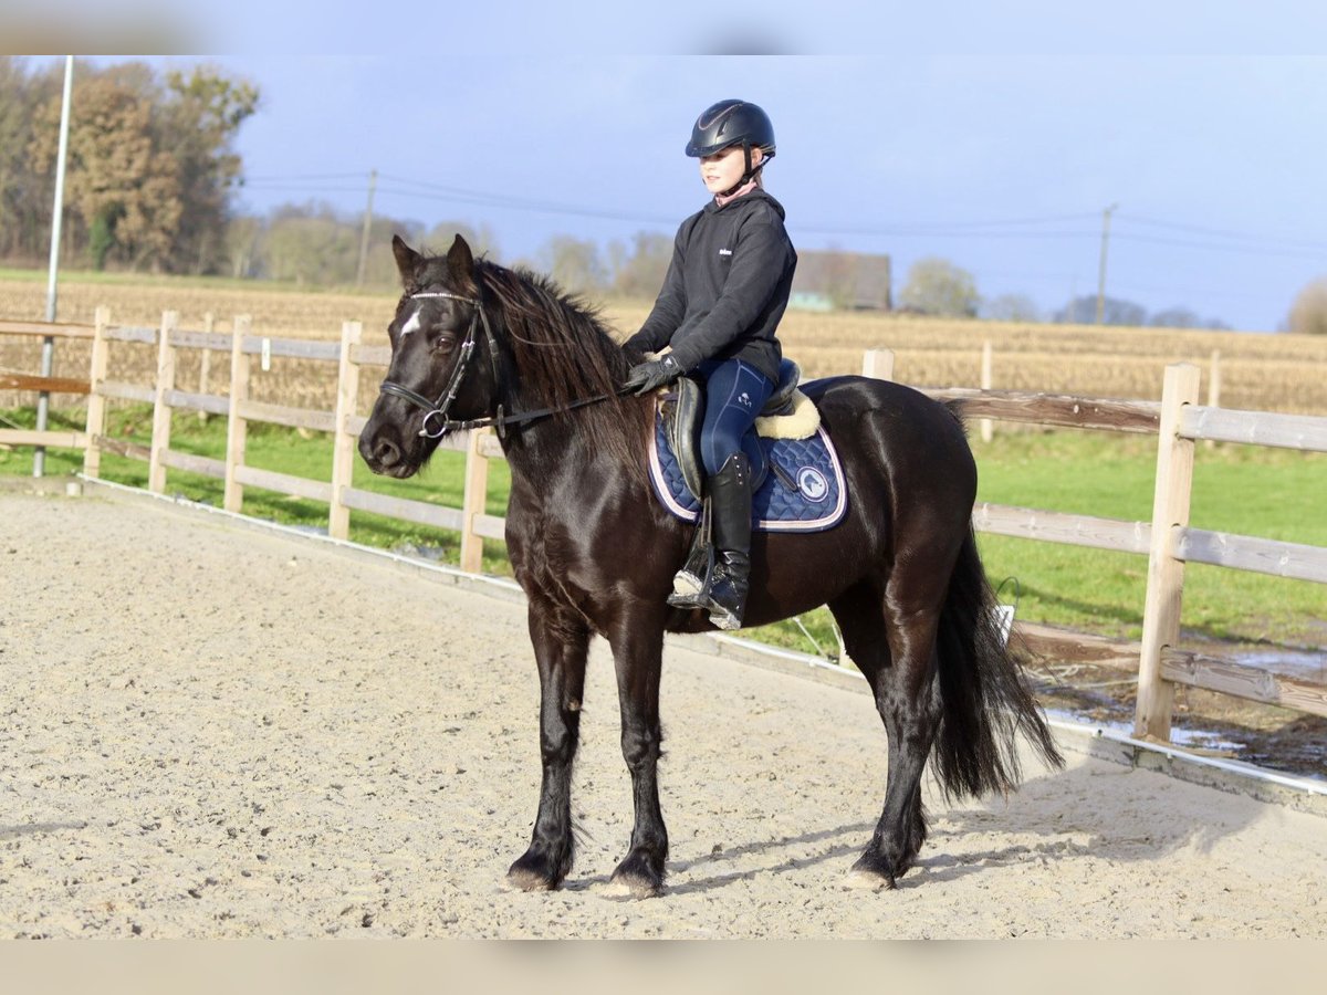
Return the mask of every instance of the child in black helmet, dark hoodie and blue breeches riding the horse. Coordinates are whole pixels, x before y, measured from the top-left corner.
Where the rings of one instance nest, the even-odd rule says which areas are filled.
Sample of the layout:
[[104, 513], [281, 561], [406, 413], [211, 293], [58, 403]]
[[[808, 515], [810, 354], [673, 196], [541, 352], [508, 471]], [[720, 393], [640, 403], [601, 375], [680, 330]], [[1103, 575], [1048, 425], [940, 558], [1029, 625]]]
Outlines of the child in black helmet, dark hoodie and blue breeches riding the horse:
[[703, 608], [721, 629], [742, 626], [751, 573], [751, 460], [742, 436], [779, 379], [775, 338], [788, 304], [798, 255], [783, 206], [764, 192], [760, 171], [774, 158], [774, 125], [755, 103], [726, 100], [695, 119], [686, 154], [701, 161], [713, 199], [682, 222], [664, 289], [641, 330], [640, 352], [671, 350], [633, 366], [637, 394], [683, 373], [705, 387], [701, 459], [714, 523], [715, 565], [703, 578], [681, 570], [669, 604]]

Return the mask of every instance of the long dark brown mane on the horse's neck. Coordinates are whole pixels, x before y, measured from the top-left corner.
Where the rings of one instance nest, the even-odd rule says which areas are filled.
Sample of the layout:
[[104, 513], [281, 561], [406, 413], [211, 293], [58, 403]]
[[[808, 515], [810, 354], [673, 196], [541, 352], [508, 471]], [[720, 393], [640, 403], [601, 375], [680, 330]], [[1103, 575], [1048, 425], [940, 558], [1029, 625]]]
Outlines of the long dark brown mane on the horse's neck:
[[617, 397], [630, 364], [593, 305], [540, 273], [487, 260], [475, 265], [484, 289], [500, 305], [504, 338], [525, 403], [563, 407], [608, 394], [606, 401], [555, 418], [567, 423], [576, 419], [577, 431], [596, 450], [624, 463], [640, 462], [644, 440], [637, 417], [640, 405]]

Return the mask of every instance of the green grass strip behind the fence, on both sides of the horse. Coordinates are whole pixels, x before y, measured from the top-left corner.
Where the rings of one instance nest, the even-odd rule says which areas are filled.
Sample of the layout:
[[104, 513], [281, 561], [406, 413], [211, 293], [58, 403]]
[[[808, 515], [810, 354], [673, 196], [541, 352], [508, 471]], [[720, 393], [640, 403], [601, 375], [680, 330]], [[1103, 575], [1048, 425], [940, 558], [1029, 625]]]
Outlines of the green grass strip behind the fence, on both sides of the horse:
[[[31, 426], [31, 410], [5, 414], [11, 423]], [[52, 427], [81, 427], [77, 413], [53, 417]], [[147, 444], [151, 413], [119, 407], [111, 432]], [[1127, 521], [1152, 516], [1156, 440], [1151, 436], [1103, 432], [1007, 432], [993, 442], [974, 438], [981, 471], [979, 500]], [[176, 415], [173, 448], [222, 458], [224, 421], [203, 425]], [[251, 426], [251, 466], [326, 480], [332, 470], [330, 436], [272, 426]], [[49, 450], [48, 474], [76, 472], [81, 455]], [[32, 451], [0, 451], [0, 475], [32, 472]], [[106, 479], [146, 487], [145, 463], [102, 456]], [[439, 452], [425, 472], [410, 480], [374, 476], [357, 460], [354, 486], [398, 498], [459, 507], [464, 456]], [[167, 490], [220, 505], [222, 482], [170, 471]], [[490, 470], [487, 511], [503, 515], [510, 476], [507, 464], [494, 460]], [[1247, 446], [1198, 446], [1194, 468], [1192, 524], [1200, 528], [1282, 539], [1327, 547], [1327, 517], [1319, 513], [1327, 494], [1327, 456]], [[244, 512], [292, 525], [325, 528], [326, 505], [245, 488]], [[384, 519], [350, 515], [350, 539], [398, 551], [425, 551], [442, 563], [459, 560], [459, 536], [453, 532]], [[979, 536], [986, 569], [994, 584], [1016, 578], [1018, 617], [1105, 635], [1137, 638], [1143, 628], [1147, 557], [1085, 549], [1006, 536]], [[484, 569], [508, 574], [502, 543], [486, 543]], [[1003, 585], [1002, 600], [1014, 600], [1015, 584]], [[825, 609], [802, 617], [815, 643], [837, 651], [832, 620]], [[1182, 624], [1194, 638], [1271, 641], [1322, 645], [1327, 633], [1327, 593], [1322, 585], [1287, 581], [1239, 570], [1193, 565], [1185, 576]], [[813, 651], [795, 622], [752, 629], [752, 638]]]

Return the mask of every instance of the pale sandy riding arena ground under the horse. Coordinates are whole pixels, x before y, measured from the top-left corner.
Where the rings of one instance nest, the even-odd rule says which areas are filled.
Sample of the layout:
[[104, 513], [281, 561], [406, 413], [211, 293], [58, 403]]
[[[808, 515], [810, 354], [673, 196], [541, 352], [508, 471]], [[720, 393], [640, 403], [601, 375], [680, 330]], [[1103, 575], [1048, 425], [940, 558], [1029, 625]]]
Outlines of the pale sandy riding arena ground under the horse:
[[0, 935], [1327, 937], [1327, 820], [1068, 754], [847, 888], [884, 795], [863, 690], [670, 645], [666, 894], [591, 661], [577, 866], [507, 890], [539, 777], [524, 609], [119, 496], [0, 494]]

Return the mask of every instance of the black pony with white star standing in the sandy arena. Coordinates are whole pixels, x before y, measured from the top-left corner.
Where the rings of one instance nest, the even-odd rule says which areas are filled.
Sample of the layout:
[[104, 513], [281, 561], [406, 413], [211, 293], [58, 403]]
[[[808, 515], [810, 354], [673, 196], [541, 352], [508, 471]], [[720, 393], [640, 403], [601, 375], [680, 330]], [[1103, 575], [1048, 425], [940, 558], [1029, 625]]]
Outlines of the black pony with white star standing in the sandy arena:
[[[613, 880], [657, 894], [667, 860], [656, 771], [664, 633], [711, 626], [701, 610], [665, 604], [691, 528], [652, 492], [653, 398], [617, 394], [641, 357], [548, 280], [476, 261], [459, 236], [446, 256], [399, 237], [393, 249], [405, 293], [360, 452], [374, 472], [410, 476], [441, 435], [479, 422], [498, 426], [511, 464], [507, 552], [529, 600], [543, 787], [533, 838], [508, 880], [549, 889], [572, 868], [571, 772], [597, 633], [613, 650], [636, 804]], [[803, 390], [837, 446], [849, 511], [825, 532], [752, 536], [746, 624], [824, 604], [833, 612], [889, 738], [884, 813], [853, 870], [893, 886], [926, 838], [920, 780], [933, 746], [950, 797], [1013, 789], [1019, 731], [1047, 763], [1062, 760], [993, 617], [971, 528], [977, 470], [958, 417], [861, 377]]]

